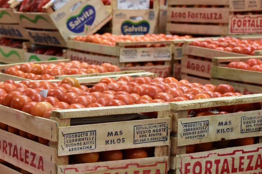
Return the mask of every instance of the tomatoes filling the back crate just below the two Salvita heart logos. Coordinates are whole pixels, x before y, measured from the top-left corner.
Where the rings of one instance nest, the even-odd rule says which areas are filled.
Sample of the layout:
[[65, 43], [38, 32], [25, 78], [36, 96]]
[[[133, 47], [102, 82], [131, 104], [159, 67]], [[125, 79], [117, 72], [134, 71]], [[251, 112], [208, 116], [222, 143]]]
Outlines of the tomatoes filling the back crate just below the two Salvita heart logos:
[[[102, 35], [94, 34], [75, 37], [76, 41], [91, 42], [94, 44], [103, 44], [109, 46], [116, 46], [116, 42], [147, 42], [147, 41], [172, 41], [177, 39], [190, 39], [191, 35], [178, 36], [178, 35], [165, 35], [165, 34], [146, 34], [144, 36], [131, 36], [131, 35], [112, 35], [111, 33], [104, 33]], [[148, 44], [146, 47], [160, 47], [165, 44]], [[143, 47], [141, 45], [135, 47]], [[132, 48], [132, 46], [129, 46]]]

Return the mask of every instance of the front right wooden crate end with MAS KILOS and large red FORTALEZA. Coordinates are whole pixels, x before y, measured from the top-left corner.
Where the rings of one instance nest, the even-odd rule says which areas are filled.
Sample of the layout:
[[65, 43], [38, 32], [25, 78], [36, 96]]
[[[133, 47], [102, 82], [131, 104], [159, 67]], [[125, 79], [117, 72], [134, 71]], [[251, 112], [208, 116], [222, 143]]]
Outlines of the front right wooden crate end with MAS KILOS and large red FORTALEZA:
[[[258, 123], [260, 124], [262, 118], [261, 110], [191, 118], [187, 118], [187, 115], [189, 109], [229, 106], [235, 104], [248, 104], [261, 101], [262, 94], [254, 94], [213, 99], [191, 100], [186, 102], [171, 102], [170, 110], [171, 114], [173, 115], [172, 131], [174, 132], [174, 134], [171, 134], [174, 135], [174, 137], [170, 137], [172, 142], [170, 168], [174, 170], [172, 172], [197, 173], [198, 171], [196, 171], [196, 168], [199, 168], [200, 166], [200, 170], [202, 171], [202, 173], [204, 173], [205, 170], [207, 171], [208, 169], [210, 170], [210, 173], [220, 173], [224, 165], [227, 164], [227, 167], [229, 166], [230, 168], [229, 173], [234, 173], [233, 171], [231, 171], [232, 165], [232, 170], [234, 168], [234, 164], [232, 164], [232, 159], [234, 158], [242, 158], [244, 166], [247, 166], [249, 162], [249, 164], [254, 164], [255, 166], [255, 164], [258, 163], [256, 161], [257, 157], [259, 157], [259, 155], [261, 155], [262, 153], [261, 125], [256, 126], [253, 124], [249, 124], [245, 122], [245, 120], [248, 119], [254, 120], [255, 122], [258, 121]], [[197, 126], [194, 126], [194, 123]], [[194, 137], [192, 138], [187, 138], [187, 136], [191, 136], [190, 133], [193, 132], [190, 131], [190, 129], [185, 129], [185, 126], [187, 125], [192, 125], [189, 127], [193, 129], [201, 128], [202, 131], [195, 133]], [[259, 144], [185, 154], [186, 145], [215, 142], [220, 141], [221, 139], [230, 140], [259, 136]], [[248, 155], [254, 155], [254, 160], [246, 160], [246, 158], [248, 159]], [[219, 161], [218, 163], [220, 165], [215, 165], [217, 161]], [[208, 167], [205, 167], [207, 163]], [[235, 165], [238, 166], [238, 164], [238, 160], [235, 161]], [[254, 170], [252, 169], [252, 173], [253, 172], [261, 172], [261, 168], [256, 168]], [[245, 168], [243, 172], [236, 171], [236, 173], [248, 173], [248, 170]]]

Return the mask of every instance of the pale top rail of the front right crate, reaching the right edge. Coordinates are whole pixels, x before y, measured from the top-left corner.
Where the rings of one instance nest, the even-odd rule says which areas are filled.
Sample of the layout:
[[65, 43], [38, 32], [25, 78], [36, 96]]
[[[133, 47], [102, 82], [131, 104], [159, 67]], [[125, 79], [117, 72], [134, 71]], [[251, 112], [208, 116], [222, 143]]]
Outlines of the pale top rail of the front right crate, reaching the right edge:
[[172, 110], [188, 110], [209, 108], [217, 106], [229, 106], [236, 104], [256, 103], [262, 101], [262, 94], [241, 95], [232, 97], [219, 97], [211, 99], [199, 99], [182, 102], [170, 102], [170, 109]]

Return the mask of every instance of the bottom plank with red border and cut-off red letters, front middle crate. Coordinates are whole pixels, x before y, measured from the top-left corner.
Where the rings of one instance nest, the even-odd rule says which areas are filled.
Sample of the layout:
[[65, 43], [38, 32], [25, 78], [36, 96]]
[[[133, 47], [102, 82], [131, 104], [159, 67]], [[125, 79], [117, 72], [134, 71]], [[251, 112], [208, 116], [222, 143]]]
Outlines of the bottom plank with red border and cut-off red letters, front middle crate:
[[58, 166], [57, 174], [87, 174], [87, 173], [167, 173], [168, 157], [151, 157], [132, 160], [97, 162]]

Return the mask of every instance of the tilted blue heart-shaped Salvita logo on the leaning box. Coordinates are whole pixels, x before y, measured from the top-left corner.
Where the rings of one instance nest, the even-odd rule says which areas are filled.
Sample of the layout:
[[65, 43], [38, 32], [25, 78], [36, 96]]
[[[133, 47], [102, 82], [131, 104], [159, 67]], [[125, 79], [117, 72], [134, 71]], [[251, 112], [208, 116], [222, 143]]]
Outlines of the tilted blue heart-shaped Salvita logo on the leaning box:
[[74, 33], [88, 31], [95, 21], [95, 8], [91, 5], [86, 5], [81, 12], [70, 17], [67, 22], [67, 28]]

